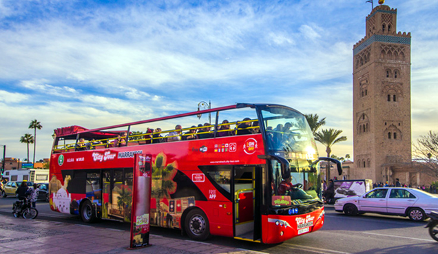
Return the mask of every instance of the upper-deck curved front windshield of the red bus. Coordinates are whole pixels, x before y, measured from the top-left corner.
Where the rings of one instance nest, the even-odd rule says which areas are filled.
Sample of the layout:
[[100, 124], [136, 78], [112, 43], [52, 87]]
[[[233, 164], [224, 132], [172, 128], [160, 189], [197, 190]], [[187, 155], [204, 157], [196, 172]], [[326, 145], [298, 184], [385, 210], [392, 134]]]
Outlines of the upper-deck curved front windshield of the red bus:
[[261, 112], [268, 151], [286, 152], [292, 158], [317, 158], [312, 131], [302, 114], [283, 107], [265, 107]]

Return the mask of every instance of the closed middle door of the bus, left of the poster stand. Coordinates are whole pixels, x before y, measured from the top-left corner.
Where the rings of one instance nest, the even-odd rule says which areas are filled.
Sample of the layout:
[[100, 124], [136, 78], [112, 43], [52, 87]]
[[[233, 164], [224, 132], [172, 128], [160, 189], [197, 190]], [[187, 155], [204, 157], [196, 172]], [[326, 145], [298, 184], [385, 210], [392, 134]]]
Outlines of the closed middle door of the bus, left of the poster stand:
[[130, 221], [127, 214], [132, 202], [132, 169], [104, 169], [102, 171], [102, 218]]

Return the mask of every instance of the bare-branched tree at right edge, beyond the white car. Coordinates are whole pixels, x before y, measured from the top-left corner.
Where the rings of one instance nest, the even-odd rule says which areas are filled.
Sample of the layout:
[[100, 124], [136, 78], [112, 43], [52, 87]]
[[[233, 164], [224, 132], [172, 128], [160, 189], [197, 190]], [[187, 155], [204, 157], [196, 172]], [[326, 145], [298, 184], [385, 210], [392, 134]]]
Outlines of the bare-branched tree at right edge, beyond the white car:
[[438, 133], [429, 131], [426, 136], [420, 136], [413, 145], [414, 160], [421, 162], [425, 173], [438, 177]]

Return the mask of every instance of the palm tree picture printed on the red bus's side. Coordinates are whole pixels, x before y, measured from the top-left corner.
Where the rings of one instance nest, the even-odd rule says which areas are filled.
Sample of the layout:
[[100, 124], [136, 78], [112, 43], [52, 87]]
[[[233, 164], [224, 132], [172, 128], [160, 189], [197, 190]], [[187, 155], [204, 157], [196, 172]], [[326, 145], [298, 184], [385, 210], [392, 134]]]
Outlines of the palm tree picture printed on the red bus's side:
[[160, 226], [160, 199], [170, 198], [170, 194], [176, 191], [176, 182], [174, 177], [178, 171], [176, 162], [171, 162], [166, 165], [166, 156], [163, 152], [156, 156], [156, 160], [152, 165], [152, 191], [151, 196], [156, 200], [156, 225]]

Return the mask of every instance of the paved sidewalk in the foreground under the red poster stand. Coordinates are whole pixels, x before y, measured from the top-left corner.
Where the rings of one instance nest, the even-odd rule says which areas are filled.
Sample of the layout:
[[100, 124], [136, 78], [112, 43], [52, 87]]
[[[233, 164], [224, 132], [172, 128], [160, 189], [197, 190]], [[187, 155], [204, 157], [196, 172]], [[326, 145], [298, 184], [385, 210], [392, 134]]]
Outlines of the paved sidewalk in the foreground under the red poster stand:
[[0, 253], [260, 253], [160, 235], [149, 236], [152, 246], [127, 250], [129, 231], [38, 219], [24, 220], [12, 215], [0, 215], [0, 220]]

